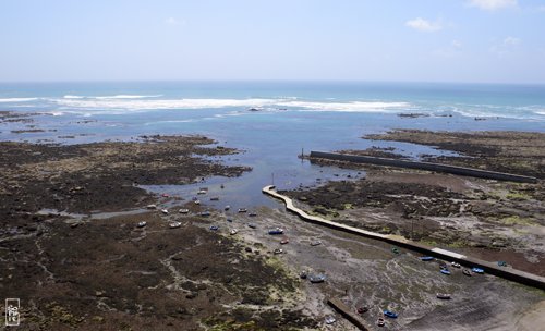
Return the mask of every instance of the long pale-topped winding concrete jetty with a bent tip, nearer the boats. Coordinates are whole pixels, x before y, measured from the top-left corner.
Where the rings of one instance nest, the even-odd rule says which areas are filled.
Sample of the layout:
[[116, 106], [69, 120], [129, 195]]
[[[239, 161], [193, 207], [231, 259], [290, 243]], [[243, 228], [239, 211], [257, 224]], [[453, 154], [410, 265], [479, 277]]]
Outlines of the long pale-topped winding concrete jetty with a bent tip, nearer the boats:
[[521, 283], [524, 285], [534, 286], [537, 289], [545, 290], [545, 278], [543, 278], [543, 277], [532, 274], [529, 272], [524, 272], [521, 270], [512, 269], [512, 268], [499, 267], [496, 262], [484, 261], [481, 259], [468, 257], [465, 255], [461, 255], [461, 254], [450, 252], [447, 249], [429, 247], [426, 245], [422, 245], [422, 244], [409, 241], [409, 240], [401, 237], [401, 236], [398, 236], [398, 235], [380, 234], [380, 233], [376, 233], [376, 232], [366, 231], [363, 229], [353, 228], [350, 225], [344, 225], [344, 224], [337, 223], [334, 221], [329, 221], [329, 220], [323, 219], [323, 218], [317, 217], [317, 216], [308, 214], [304, 210], [295, 207], [293, 205], [293, 201], [289, 197], [276, 192], [274, 185], [265, 186], [262, 191], [263, 191], [263, 193], [265, 193], [267, 195], [270, 195], [277, 199], [282, 200], [286, 204], [286, 208], [289, 211], [298, 214], [304, 221], [319, 224], [323, 226], [327, 226], [327, 228], [330, 228], [334, 230], [343, 231], [343, 232], [374, 238], [374, 240], [382, 241], [382, 242], [387, 242], [387, 243], [390, 243], [390, 244], [399, 246], [399, 247], [403, 247], [403, 248], [407, 248], [407, 249], [410, 249], [413, 252], [419, 252], [419, 253], [424, 254], [426, 256], [427, 255], [433, 256], [433, 257], [436, 257], [439, 259], [444, 259], [446, 261], [456, 261], [456, 262], [459, 262], [460, 265], [463, 265], [463, 266], [469, 267], [469, 268], [477, 267], [477, 268], [483, 269], [486, 273], [494, 274], [494, 275], [497, 275], [497, 277], [500, 277], [500, 278], [504, 278], [504, 279], [507, 279], [510, 281], [514, 281], [514, 282], [518, 282], [518, 283]]

